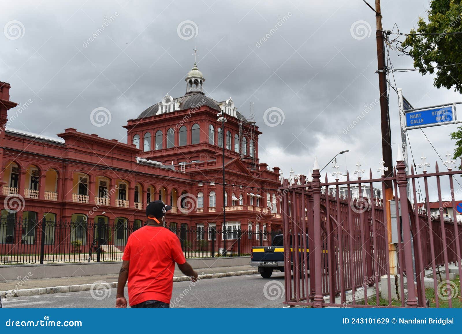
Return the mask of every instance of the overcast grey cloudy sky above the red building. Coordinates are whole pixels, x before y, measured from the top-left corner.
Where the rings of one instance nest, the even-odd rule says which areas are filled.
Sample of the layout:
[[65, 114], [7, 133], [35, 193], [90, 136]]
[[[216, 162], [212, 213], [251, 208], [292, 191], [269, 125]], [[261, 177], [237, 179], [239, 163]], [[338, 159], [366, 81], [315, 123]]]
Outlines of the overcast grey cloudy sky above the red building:
[[[405, 33], [429, 5], [382, 2], [384, 29]], [[362, 0], [16, 0], [1, 6], [0, 81], [12, 85], [12, 101], [32, 101], [12, 128], [54, 136], [73, 127], [126, 141], [126, 120], [166, 93], [184, 94], [197, 47], [206, 95], [232, 97], [243, 115], [255, 103], [261, 162], [286, 175], [291, 167], [306, 174], [315, 155], [324, 165], [350, 150], [338, 161], [342, 170], [355, 170], [359, 160], [377, 175], [375, 13]], [[395, 68], [412, 68], [408, 56], [391, 51], [390, 59]], [[461, 100], [432, 81], [407, 72], [395, 73], [392, 84], [414, 107]], [[389, 96], [395, 159], [400, 133], [393, 89]], [[98, 107], [111, 114], [103, 127], [90, 121]], [[268, 108], [282, 111], [277, 126], [265, 122]], [[443, 158], [454, 149], [449, 134], [455, 129], [424, 130]], [[425, 154], [434, 164], [438, 156], [422, 132], [409, 131], [409, 137], [416, 163]]]

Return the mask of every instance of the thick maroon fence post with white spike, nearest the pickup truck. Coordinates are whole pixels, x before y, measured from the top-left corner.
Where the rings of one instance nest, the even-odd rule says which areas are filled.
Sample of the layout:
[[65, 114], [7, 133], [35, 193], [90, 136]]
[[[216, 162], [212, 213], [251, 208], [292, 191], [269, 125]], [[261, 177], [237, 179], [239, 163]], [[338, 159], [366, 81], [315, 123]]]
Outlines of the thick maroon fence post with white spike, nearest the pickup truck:
[[322, 297], [321, 174], [319, 173], [317, 157], [315, 157], [312, 176], [313, 182], [311, 182], [311, 191], [313, 192], [314, 248], [310, 247], [310, 249], [314, 252], [315, 258], [315, 297], [313, 299], [313, 307], [321, 308], [324, 304], [324, 298]]

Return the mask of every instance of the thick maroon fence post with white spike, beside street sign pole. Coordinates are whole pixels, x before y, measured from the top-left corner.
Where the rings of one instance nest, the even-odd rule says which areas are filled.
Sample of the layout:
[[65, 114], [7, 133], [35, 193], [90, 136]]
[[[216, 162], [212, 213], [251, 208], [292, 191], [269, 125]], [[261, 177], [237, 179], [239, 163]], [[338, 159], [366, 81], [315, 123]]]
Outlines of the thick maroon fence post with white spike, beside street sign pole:
[[[409, 221], [409, 208], [407, 206], [407, 178], [406, 165], [402, 158], [401, 147], [398, 148], [398, 161], [396, 165], [396, 184], [399, 188], [401, 205], [401, 228], [403, 233], [404, 244], [404, 267], [407, 273], [407, 306], [417, 307], [417, 298], [415, 296], [414, 285], [414, 270], [412, 263], [412, 248], [411, 248], [411, 227]], [[396, 204], [398, 205], [398, 203]]]

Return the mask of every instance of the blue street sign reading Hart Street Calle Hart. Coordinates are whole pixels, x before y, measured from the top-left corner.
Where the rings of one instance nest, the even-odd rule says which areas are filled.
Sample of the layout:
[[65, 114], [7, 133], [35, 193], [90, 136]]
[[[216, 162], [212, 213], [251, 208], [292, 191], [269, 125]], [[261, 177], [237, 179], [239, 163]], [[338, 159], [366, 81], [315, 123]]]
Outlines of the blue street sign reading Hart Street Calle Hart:
[[455, 122], [452, 106], [405, 112], [406, 128], [424, 128]]

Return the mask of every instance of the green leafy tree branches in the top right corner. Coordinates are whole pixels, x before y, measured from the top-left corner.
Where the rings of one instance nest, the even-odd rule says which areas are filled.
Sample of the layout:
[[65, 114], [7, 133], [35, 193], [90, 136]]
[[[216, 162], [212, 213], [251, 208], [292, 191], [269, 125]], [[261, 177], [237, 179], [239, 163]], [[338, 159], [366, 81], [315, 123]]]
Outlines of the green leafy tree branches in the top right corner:
[[462, 1], [431, 0], [427, 13], [428, 22], [419, 18], [402, 46], [420, 73], [436, 73], [435, 87], [462, 92], [462, 34], [453, 34], [462, 31]]

